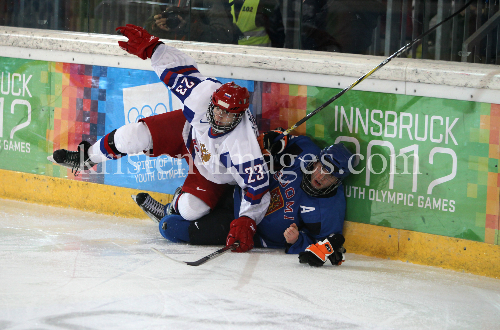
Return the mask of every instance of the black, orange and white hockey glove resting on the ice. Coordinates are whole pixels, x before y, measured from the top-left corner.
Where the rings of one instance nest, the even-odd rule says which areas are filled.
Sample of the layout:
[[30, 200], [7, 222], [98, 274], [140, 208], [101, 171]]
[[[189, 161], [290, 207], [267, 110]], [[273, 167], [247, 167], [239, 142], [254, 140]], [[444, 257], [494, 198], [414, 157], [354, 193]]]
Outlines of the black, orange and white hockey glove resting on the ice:
[[335, 234], [315, 245], [309, 245], [305, 251], [298, 254], [300, 263], [308, 263], [312, 267], [321, 267], [330, 259], [331, 264], [339, 266], [344, 261], [343, 253], [346, 252], [342, 244], [345, 238], [341, 234]]

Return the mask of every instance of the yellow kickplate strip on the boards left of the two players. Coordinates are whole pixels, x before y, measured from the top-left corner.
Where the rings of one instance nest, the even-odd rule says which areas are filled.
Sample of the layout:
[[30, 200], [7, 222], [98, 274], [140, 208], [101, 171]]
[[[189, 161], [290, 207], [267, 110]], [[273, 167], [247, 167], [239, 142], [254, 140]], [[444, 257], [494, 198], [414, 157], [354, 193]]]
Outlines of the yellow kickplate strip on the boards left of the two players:
[[[0, 169], [0, 198], [36, 204], [148, 218], [131, 198], [139, 192], [144, 191]], [[162, 204], [172, 198], [168, 194], [147, 192]]]

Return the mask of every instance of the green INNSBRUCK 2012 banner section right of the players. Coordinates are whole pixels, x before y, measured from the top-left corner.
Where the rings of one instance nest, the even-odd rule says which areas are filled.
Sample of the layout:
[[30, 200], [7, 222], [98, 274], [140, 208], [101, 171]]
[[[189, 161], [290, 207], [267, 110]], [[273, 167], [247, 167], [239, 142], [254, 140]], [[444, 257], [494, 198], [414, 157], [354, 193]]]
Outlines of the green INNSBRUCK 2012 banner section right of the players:
[[[308, 87], [307, 111], [339, 91]], [[306, 132], [358, 154], [348, 220], [498, 243], [499, 105], [351, 90]]]

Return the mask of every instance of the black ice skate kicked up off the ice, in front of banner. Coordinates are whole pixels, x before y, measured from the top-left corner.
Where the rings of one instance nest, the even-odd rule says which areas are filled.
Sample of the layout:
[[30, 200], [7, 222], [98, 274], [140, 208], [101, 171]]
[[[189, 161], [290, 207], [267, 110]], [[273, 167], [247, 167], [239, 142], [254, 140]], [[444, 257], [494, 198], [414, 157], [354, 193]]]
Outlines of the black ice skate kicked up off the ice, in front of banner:
[[82, 141], [78, 145], [78, 151], [68, 151], [65, 149], [55, 150], [47, 159], [54, 164], [71, 168], [71, 173], [74, 172], [74, 176], [78, 176], [80, 171], [89, 170], [97, 164], [89, 159], [88, 148], [90, 148], [90, 146], [91, 144], [89, 142]]

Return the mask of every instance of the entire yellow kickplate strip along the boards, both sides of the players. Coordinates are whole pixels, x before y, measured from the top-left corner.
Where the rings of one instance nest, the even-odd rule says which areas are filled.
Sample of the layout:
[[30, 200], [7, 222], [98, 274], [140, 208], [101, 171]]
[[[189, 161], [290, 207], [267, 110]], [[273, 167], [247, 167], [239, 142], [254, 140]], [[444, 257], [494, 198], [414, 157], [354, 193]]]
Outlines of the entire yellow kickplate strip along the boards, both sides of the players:
[[[132, 194], [141, 190], [0, 169], [0, 198], [147, 218]], [[148, 192], [166, 204], [172, 196]], [[500, 278], [500, 245], [345, 221], [349, 253], [408, 261]]]

